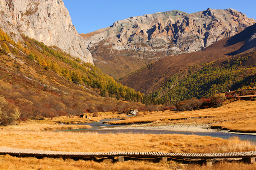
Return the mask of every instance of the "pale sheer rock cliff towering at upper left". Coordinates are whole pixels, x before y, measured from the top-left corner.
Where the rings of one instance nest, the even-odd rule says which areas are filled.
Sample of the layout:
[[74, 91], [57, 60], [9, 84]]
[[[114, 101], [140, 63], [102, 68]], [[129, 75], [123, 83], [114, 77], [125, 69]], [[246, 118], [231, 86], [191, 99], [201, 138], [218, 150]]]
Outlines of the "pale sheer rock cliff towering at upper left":
[[24, 34], [93, 64], [62, 0], [1, 0], [0, 10], [0, 28], [15, 41]]

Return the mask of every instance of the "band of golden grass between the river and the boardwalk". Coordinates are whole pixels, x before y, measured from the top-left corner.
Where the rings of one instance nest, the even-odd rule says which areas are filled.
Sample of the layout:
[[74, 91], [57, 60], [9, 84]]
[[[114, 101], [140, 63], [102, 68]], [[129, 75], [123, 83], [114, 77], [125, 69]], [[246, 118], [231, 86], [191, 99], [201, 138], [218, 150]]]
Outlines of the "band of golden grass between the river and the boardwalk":
[[256, 145], [239, 138], [180, 134], [98, 134], [91, 132], [52, 132], [0, 130], [0, 147], [67, 152], [242, 152], [256, 150]]

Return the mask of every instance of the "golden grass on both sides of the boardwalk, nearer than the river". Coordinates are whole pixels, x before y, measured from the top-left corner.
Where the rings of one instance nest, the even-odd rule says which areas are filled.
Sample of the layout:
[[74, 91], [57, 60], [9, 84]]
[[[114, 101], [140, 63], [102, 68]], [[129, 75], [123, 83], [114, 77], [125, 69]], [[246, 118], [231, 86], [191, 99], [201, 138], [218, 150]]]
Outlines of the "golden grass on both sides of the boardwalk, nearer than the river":
[[[27, 148], [67, 152], [242, 152], [256, 150], [255, 143], [239, 138], [221, 138], [197, 135], [155, 135], [155, 134], [97, 134], [90, 132], [52, 132], [0, 129], [0, 147]], [[213, 169], [228, 169], [230, 164], [219, 164]], [[233, 164], [232, 164], [233, 165]], [[234, 163], [235, 169], [253, 169], [256, 165]], [[246, 167], [246, 168], [243, 168]], [[181, 165], [175, 162], [95, 162], [61, 158], [17, 158], [0, 156], [0, 170], [5, 169], [114, 169], [114, 170], [165, 170], [206, 169], [202, 165]]]

